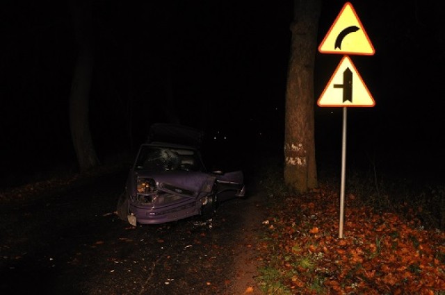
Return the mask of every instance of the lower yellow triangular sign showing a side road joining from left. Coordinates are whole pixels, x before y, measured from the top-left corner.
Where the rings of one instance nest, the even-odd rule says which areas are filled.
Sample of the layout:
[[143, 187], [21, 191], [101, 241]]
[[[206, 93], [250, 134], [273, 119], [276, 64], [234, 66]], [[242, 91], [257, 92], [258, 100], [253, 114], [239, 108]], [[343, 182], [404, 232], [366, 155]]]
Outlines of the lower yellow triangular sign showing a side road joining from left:
[[375, 106], [373, 96], [348, 58], [343, 56], [317, 101], [318, 106]]

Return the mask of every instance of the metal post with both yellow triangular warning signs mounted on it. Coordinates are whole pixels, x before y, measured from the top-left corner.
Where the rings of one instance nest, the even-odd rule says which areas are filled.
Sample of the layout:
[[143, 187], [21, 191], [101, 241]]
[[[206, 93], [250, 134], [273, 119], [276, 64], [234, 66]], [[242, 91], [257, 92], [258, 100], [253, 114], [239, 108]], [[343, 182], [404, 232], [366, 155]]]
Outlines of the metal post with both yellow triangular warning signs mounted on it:
[[348, 107], [373, 107], [375, 101], [349, 54], [372, 56], [374, 47], [351, 3], [346, 2], [318, 47], [320, 53], [343, 54], [339, 66], [317, 101], [321, 107], [343, 107], [339, 238], [343, 238], [346, 183], [346, 126]]

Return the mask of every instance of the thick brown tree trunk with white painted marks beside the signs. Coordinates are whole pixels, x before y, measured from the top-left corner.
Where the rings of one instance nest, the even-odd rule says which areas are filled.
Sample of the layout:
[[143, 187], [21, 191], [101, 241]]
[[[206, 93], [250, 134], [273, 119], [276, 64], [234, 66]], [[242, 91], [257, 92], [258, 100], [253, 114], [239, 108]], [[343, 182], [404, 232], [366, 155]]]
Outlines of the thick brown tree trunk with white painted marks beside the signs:
[[286, 86], [284, 182], [298, 193], [318, 186], [314, 139], [314, 60], [321, 0], [294, 0]]

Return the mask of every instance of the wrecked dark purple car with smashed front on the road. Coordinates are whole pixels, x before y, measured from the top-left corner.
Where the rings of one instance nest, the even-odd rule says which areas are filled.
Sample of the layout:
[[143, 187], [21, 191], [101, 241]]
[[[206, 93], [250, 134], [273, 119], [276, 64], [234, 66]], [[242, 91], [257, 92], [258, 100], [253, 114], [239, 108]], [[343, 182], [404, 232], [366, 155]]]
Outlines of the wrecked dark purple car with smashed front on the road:
[[120, 219], [133, 226], [194, 215], [211, 219], [219, 202], [243, 197], [243, 172], [207, 171], [198, 147], [201, 141], [202, 133], [193, 128], [154, 124], [118, 200]]

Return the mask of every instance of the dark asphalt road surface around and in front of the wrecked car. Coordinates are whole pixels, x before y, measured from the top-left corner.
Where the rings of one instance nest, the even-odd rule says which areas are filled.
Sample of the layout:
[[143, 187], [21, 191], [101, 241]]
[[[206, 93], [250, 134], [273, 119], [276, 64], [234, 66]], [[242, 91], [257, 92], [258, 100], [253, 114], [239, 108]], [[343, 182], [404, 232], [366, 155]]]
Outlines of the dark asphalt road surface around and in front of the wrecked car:
[[221, 204], [207, 222], [133, 227], [114, 213], [126, 176], [1, 205], [0, 294], [233, 292], [248, 200]]

